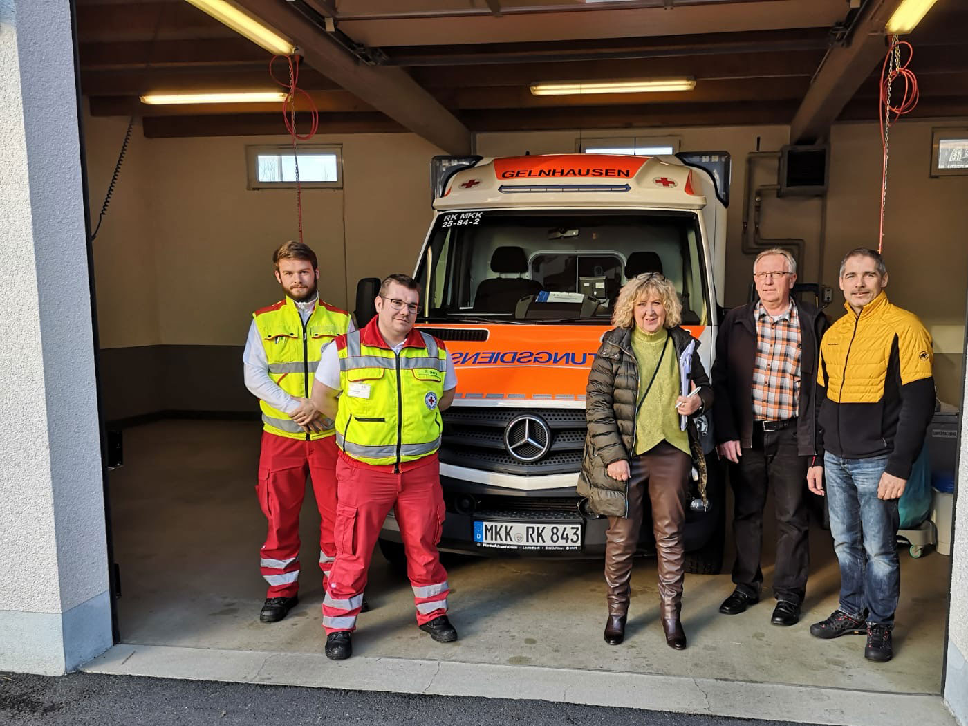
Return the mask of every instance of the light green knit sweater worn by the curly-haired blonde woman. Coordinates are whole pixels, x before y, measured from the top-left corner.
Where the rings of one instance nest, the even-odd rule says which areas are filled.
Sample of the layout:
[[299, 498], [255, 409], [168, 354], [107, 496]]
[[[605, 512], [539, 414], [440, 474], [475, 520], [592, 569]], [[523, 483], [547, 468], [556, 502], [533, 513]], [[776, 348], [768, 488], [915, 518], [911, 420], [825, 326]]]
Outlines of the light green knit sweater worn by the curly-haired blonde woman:
[[635, 420], [635, 455], [644, 454], [663, 440], [689, 453], [689, 435], [679, 428], [676, 398], [680, 395], [679, 361], [672, 341], [662, 355], [669, 333], [663, 328], [655, 333], [632, 330], [632, 352], [639, 363], [639, 400], [649, 386], [655, 366], [662, 363], [642, 408]]

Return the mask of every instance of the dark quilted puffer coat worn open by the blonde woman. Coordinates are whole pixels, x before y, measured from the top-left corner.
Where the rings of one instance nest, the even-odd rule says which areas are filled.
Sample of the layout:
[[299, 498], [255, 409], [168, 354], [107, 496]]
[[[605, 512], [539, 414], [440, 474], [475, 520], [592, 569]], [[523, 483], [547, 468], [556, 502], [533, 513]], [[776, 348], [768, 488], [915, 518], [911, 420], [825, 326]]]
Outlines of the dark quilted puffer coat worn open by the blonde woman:
[[[712, 387], [699, 358], [699, 341], [687, 330], [669, 330], [673, 350], [680, 361], [691, 348], [688, 378], [700, 389], [703, 405], [689, 417], [686, 429], [692, 450], [693, 467], [699, 473], [699, 493], [706, 499], [706, 459], [696, 423], [708, 432], [706, 413], [712, 406]], [[605, 517], [624, 517], [628, 513], [627, 481], [608, 475], [608, 465], [635, 452], [635, 407], [639, 394], [639, 364], [632, 352], [630, 328], [613, 328], [602, 339], [601, 348], [591, 364], [586, 413], [589, 433], [585, 439], [582, 471], [578, 476], [578, 494], [589, 499], [590, 509]], [[709, 432], [711, 433], [711, 432]]]

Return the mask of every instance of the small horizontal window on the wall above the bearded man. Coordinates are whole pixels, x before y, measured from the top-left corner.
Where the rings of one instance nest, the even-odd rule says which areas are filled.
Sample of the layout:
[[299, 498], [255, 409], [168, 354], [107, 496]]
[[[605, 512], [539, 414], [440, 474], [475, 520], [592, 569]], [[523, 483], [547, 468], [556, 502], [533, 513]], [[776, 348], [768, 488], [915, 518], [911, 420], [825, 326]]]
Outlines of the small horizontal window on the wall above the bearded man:
[[[296, 186], [297, 156], [291, 146], [247, 146], [249, 189], [289, 189]], [[340, 146], [300, 146], [299, 183], [303, 189], [341, 189], [343, 150]]]

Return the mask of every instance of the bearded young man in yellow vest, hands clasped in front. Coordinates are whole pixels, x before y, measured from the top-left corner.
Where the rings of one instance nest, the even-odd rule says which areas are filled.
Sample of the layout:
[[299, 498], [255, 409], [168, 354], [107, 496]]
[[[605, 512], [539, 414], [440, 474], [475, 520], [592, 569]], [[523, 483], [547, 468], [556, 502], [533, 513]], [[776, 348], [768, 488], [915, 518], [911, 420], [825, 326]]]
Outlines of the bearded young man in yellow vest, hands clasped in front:
[[353, 329], [346, 311], [319, 299], [316, 255], [301, 242], [287, 242], [272, 255], [276, 280], [286, 297], [253, 313], [242, 354], [246, 387], [262, 409], [262, 449], [256, 493], [269, 528], [259, 551], [269, 584], [262, 622], [283, 620], [298, 602], [299, 510], [306, 475], [319, 508], [319, 568], [323, 589], [336, 557], [337, 448], [332, 418], [310, 400], [319, 351]]

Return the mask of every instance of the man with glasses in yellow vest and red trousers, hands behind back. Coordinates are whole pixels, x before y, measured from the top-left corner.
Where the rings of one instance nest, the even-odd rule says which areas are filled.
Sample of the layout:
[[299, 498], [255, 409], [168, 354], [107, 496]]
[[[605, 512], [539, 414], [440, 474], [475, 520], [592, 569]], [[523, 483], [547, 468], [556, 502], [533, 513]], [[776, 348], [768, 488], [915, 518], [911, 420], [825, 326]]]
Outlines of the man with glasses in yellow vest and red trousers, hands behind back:
[[351, 634], [383, 521], [394, 510], [407, 553], [417, 624], [439, 643], [457, 640], [447, 619], [447, 573], [437, 549], [445, 509], [440, 490], [440, 411], [457, 377], [443, 344], [413, 328], [420, 286], [383, 280], [377, 316], [323, 348], [313, 404], [336, 419], [339, 504], [336, 561], [322, 601], [326, 657], [352, 655]]

